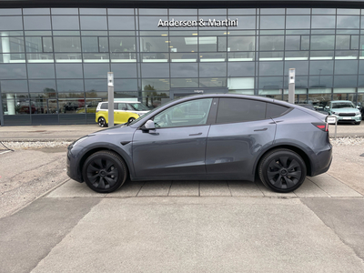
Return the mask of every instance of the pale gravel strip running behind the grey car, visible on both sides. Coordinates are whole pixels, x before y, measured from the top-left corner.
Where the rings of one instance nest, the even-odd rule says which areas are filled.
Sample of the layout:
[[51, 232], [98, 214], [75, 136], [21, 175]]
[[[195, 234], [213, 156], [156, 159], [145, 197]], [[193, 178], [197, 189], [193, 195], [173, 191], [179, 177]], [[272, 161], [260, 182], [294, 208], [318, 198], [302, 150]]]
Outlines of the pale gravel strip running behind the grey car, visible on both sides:
[[[346, 136], [338, 137], [337, 139], [330, 138], [330, 142], [334, 146], [363, 146], [364, 137], [360, 136]], [[5, 141], [4, 145], [10, 149], [40, 149], [45, 147], [67, 147], [71, 141]], [[0, 149], [3, 149], [0, 143]]]

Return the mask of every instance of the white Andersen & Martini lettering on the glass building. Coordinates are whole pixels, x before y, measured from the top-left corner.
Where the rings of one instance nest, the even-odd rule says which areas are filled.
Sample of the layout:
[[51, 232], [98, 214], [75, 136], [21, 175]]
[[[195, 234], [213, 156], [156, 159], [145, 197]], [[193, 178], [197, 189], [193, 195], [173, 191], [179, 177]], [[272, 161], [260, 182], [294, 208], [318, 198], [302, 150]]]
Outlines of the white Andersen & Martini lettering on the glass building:
[[231, 20], [230, 18], [225, 20], [216, 20], [216, 19], [199, 19], [199, 20], [172, 20], [163, 21], [159, 19], [158, 27], [208, 27], [208, 26], [238, 26], [238, 18], [235, 20]]

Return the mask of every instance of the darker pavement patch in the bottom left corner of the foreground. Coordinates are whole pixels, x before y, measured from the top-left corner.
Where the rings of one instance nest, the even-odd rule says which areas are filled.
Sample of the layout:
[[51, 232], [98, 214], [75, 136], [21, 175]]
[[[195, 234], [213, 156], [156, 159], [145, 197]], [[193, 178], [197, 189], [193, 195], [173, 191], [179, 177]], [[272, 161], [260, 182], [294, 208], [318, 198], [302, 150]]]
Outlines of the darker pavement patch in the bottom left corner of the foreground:
[[99, 198], [41, 198], [0, 219], [0, 272], [28, 273]]

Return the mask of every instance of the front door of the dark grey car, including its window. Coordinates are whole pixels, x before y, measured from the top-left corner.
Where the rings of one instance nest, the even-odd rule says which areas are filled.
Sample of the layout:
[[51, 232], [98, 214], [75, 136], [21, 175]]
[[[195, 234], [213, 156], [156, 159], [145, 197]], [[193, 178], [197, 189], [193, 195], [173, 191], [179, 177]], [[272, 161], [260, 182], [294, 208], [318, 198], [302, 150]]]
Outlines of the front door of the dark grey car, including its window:
[[136, 177], [206, 175], [205, 153], [212, 98], [187, 101], [154, 116], [155, 131], [133, 137]]

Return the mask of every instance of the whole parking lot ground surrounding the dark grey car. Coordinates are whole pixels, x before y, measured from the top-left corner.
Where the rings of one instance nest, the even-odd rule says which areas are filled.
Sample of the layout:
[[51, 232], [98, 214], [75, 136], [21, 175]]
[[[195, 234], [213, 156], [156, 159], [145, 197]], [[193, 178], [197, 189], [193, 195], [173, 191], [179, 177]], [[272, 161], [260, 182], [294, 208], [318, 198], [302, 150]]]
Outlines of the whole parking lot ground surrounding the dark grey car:
[[[55, 127], [7, 134], [60, 141], [97, 129]], [[364, 150], [361, 138], [332, 143], [329, 172], [289, 194], [222, 180], [97, 194], [66, 177], [65, 147], [16, 147], [0, 154], [0, 272], [364, 272]]]

